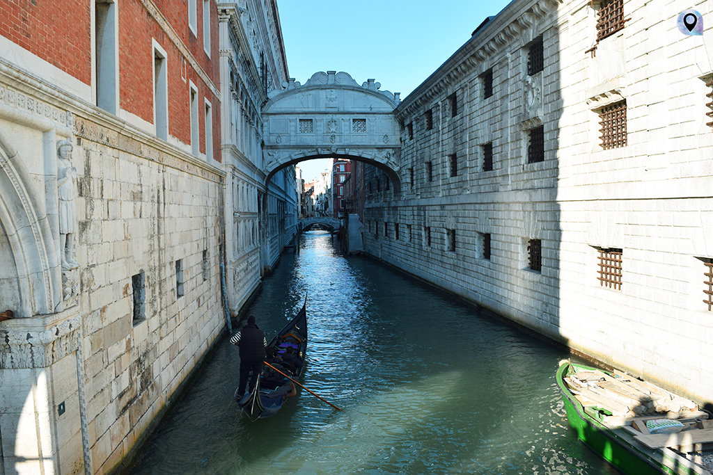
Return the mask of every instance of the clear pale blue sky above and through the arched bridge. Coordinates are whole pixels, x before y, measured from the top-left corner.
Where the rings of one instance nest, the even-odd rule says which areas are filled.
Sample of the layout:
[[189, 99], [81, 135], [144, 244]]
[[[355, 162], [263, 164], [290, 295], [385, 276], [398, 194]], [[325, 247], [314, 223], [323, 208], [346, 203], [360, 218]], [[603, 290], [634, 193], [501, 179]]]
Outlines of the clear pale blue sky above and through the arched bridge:
[[[289, 75], [346, 71], [406, 98], [509, 0], [277, 0]], [[299, 164], [309, 181], [328, 160]]]

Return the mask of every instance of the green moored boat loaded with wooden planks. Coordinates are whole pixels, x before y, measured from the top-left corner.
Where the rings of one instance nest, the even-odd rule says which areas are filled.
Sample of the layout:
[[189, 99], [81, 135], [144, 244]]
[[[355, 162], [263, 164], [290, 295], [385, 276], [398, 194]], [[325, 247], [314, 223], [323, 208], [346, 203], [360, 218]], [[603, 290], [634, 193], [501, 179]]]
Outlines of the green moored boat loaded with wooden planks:
[[556, 379], [577, 437], [625, 474], [711, 474], [713, 429], [693, 402], [622, 372], [569, 361], [560, 363]]

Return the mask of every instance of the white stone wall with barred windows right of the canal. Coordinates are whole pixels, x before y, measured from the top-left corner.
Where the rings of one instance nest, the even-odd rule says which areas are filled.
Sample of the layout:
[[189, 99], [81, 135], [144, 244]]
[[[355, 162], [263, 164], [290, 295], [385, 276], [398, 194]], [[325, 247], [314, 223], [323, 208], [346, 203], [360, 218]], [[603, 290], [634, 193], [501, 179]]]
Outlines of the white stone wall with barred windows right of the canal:
[[[709, 18], [707, 3], [693, 7]], [[628, 0], [624, 27], [597, 43], [599, 8], [515, 1], [399, 105], [402, 192], [370, 168], [366, 251], [709, 402], [713, 22], [684, 36], [675, 4]], [[544, 68], [528, 74], [540, 37]], [[627, 144], [605, 150], [599, 112], [621, 100]], [[528, 162], [540, 125], [543, 160]], [[541, 243], [540, 271], [530, 269], [530, 240]], [[597, 279], [600, 249], [622, 250], [618, 290]]]

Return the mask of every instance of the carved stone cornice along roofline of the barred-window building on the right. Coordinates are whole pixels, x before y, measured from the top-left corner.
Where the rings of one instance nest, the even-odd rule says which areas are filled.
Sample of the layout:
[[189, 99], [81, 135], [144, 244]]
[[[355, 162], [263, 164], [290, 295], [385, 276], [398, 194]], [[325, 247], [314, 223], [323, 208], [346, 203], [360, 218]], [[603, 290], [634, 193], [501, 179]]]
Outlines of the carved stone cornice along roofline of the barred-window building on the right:
[[406, 120], [420, 113], [424, 105], [446, 93], [451, 85], [463, 80], [478, 64], [501, 53], [528, 28], [557, 11], [562, 3], [563, 0], [535, 1], [520, 15], [513, 15], [515, 12], [512, 11], [518, 8], [518, 2], [506, 6], [401, 102], [394, 110], [396, 118]]

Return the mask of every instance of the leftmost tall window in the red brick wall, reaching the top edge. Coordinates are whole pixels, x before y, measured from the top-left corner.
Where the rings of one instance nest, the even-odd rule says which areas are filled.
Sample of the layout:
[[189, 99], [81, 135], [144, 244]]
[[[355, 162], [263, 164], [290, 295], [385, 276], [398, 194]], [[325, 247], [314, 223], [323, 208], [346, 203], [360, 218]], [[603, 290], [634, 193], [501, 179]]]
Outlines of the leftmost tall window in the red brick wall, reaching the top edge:
[[96, 0], [96, 105], [116, 114], [117, 94], [117, 36], [116, 3]]

